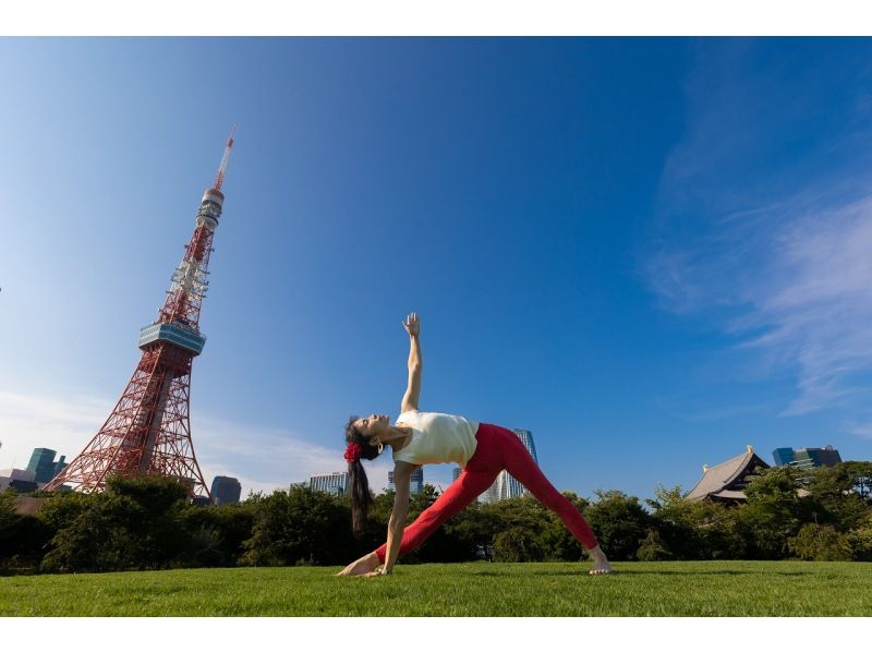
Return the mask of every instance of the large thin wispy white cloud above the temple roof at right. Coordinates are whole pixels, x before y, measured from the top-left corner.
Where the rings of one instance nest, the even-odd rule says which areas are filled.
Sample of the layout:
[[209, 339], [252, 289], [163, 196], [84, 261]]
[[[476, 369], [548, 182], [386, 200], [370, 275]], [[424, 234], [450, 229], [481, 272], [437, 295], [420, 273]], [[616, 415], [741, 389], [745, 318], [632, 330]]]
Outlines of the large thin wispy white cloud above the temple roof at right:
[[[850, 97], [850, 69], [809, 64], [798, 86], [788, 63], [748, 43], [700, 48], [644, 276], [665, 310], [712, 324], [763, 374], [794, 374], [783, 414], [869, 412], [870, 132], [857, 126], [869, 106], [814, 125], [831, 95]], [[802, 156], [784, 156], [798, 138]]]

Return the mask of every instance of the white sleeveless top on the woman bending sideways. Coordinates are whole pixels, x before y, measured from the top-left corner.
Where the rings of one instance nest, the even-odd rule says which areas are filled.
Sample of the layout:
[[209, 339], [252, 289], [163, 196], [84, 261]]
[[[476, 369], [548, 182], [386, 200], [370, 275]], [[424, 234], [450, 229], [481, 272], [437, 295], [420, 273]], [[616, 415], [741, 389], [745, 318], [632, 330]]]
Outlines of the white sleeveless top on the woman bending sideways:
[[397, 418], [397, 423], [412, 428], [412, 438], [400, 450], [393, 451], [393, 461], [412, 464], [443, 464], [457, 462], [465, 467], [475, 452], [475, 431], [479, 423], [455, 414], [409, 410]]

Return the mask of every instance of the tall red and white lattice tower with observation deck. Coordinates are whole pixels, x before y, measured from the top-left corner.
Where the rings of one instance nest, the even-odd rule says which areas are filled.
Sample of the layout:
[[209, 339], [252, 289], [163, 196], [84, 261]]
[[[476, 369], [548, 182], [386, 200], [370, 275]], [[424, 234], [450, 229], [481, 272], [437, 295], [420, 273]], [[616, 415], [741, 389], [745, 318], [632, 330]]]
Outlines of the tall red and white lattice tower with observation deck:
[[205, 193], [194, 234], [172, 274], [167, 299], [153, 324], [140, 331], [143, 354], [133, 377], [99, 432], [46, 490], [64, 484], [81, 492], [102, 491], [111, 475], [177, 478], [189, 494], [210, 499], [191, 440], [191, 363], [203, 351], [199, 311], [209, 281], [209, 254], [225, 195], [233, 132], [215, 183]]

